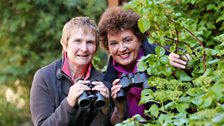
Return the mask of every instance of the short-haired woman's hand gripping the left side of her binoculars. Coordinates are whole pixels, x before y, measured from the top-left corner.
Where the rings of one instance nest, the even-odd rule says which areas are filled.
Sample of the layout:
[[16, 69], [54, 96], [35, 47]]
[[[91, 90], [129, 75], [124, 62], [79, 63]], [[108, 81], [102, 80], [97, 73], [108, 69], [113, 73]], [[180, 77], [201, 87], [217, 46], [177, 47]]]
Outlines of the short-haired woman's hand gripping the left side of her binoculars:
[[72, 85], [69, 89], [68, 96], [67, 96], [67, 101], [68, 104], [71, 107], [74, 107], [77, 103], [77, 100], [79, 96], [84, 92], [91, 90], [87, 84], [89, 84], [90, 81], [84, 81], [84, 80], [79, 80], [77, 81], [74, 85]]

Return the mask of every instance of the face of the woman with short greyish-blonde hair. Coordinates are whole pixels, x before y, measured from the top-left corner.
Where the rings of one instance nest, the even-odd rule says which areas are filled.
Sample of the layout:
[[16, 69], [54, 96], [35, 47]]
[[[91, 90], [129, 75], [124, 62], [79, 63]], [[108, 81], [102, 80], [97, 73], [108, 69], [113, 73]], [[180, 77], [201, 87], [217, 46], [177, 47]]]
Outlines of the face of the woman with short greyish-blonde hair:
[[96, 36], [93, 32], [83, 32], [80, 28], [68, 40], [67, 47], [68, 61], [72, 65], [88, 65], [96, 53]]

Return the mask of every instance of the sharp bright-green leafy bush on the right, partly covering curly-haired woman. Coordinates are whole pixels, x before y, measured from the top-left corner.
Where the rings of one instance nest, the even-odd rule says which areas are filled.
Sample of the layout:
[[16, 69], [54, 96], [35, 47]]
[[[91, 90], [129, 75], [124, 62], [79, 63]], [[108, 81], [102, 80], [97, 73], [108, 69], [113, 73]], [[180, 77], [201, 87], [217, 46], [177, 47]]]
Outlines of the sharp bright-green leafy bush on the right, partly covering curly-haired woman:
[[[138, 26], [155, 54], [143, 57], [138, 69], [152, 75], [140, 104], [156, 102], [147, 123], [127, 119], [121, 125], [224, 125], [224, 2], [221, 0], [132, 0], [125, 5], [141, 18]], [[164, 48], [164, 46], [169, 46]], [[187, 70], [169, 64], [165, 50], [189, 54]]]

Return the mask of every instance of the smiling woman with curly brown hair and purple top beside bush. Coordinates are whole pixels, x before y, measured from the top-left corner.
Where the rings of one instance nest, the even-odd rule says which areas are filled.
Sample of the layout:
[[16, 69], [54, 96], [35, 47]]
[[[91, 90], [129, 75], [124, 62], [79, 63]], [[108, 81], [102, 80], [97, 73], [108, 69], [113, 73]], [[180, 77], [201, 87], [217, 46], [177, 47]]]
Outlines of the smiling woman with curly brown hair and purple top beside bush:
[[[139, 59], [147, 54], [155, 53], [156, 45], [149, 44], [138, 28], [139, 15], [122, 7], [108, 8], [99, 21], [99, 32], [102, 46], [110, 54], [104, 79], [113, 84], [111, 96], [115, 107], [111, 117], [112, 124], [122, 122], [135, 114], [145, 117], [146, 105], [139, 105], [142, 88], [131, 87], [127, 100], [117, 101], [117, 93], [121, 90], [120, 78], [123, 73], [136, 73]], [[168, 53], [167, 53], [168, 54]], [[170, 64], [185, 68], [186, 62], [179, 55], [169, 55]]]

